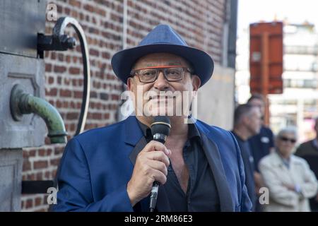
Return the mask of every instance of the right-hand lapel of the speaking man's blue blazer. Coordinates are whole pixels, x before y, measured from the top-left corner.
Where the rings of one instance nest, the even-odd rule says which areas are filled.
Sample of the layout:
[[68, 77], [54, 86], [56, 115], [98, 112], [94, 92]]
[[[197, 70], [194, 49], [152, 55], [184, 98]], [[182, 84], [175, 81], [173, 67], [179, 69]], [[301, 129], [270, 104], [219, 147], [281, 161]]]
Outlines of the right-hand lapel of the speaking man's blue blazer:
[[204, 153], [206, 154], [208, 164], [210, 165], [214, 179], [216, 180], [218, 196], [220, 197], [220, 210], [223, 212], [232, 212], [235, 210], [235, 205], [232, 201], [232, 196], [230, 195], [231, 192], [226, 179], [222, 160], [220, 159], [218, 146], [200, 130], [199, 132], [202, 139]]

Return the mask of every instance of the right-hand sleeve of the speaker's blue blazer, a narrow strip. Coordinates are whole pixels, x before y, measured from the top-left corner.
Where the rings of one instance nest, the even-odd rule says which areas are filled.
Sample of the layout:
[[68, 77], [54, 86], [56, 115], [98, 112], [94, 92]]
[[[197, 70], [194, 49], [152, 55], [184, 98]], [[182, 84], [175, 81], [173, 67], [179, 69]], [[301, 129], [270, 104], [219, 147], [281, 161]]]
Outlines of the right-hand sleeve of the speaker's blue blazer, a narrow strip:
[[250, 212], [252, 211], [252, 202], [249, 198], [249, 194], [247, 193], [247, 186], [245, 185], [245, 169], [244, 163], [242, 160], [240, 146], [238, 145], [235, 136], [231, 133], [232, 138], [235, 143], [235, 148], [237, 150], [237, 162], [238, 162], [238, 169], [240, 173], [240, 180], [241, 180], [241, 198], [240, 198], [240, 211], [241, 212]]

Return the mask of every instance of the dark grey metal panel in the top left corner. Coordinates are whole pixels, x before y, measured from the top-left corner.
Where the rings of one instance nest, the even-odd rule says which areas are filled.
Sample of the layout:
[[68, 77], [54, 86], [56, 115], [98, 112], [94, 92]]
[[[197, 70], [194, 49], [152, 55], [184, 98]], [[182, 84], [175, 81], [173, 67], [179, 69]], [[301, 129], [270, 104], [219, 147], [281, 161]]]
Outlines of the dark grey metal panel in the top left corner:
[[45, 0], [0, 1], [0, 52], [37, 57], [37, 33], [45, 33]]

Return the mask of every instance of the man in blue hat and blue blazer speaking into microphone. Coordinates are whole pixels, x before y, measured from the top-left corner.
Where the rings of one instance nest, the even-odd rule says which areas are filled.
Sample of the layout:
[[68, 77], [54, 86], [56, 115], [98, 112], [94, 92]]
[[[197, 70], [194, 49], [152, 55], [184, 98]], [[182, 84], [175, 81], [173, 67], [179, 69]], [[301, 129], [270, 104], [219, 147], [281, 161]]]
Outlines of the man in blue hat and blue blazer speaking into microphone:
[[[177, 114], [211, 78], [211, 57], [187, 46], [169, 25], [158, 25], [139, 46], [114, 54], [112, 68], [134, 97], [136, 116], [69, 141], [53, 210], [146, 212], [156, 181], [161, 184], [156, 211], [249, 211], [232, 133], [199, 120], [184, 123], [194, 121], [188, 111]], [[165, 145], [151, 141], [158, 114], [171, 122]]]

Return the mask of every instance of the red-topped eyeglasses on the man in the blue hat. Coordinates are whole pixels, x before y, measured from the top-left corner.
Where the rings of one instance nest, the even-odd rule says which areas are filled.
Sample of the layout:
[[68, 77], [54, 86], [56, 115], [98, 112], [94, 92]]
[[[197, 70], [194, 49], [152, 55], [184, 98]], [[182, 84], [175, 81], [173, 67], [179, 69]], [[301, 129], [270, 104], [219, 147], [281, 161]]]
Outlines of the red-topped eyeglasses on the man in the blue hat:
[[141, 83], [153, 83], [159, 75], [159, 71], [163, 71], [163, 76], [170, 82], [181, 81], [184, 77], [184, 71], [193, 73], [184, 66], [154, 66], [151, 68], [131, 70], [131, 76], [138, 76]]

